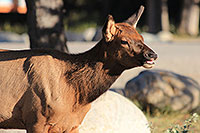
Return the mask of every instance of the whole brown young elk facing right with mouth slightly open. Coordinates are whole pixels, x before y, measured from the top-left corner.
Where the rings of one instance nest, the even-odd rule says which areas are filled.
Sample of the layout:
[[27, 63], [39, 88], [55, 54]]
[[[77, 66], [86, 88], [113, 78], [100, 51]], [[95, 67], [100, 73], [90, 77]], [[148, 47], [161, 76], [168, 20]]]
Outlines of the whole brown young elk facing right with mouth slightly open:
[[135, 29], [143, 9], [131, 24], [115, 23], [109, 15], [103, 38], [84, 53], [1, 51], [0, 128], [78, 132], [90, 103], [124, 70], [153, 66], [157, 54]]

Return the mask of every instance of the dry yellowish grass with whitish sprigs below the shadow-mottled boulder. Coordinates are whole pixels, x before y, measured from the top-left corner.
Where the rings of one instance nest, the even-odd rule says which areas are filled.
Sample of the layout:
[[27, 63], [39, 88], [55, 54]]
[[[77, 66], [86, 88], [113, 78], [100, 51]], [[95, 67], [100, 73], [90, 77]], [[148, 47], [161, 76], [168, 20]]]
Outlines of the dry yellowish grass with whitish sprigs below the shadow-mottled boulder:
[[[190, 121], [192, 115], [189, 113], [169, 113], [164, 115], [146, 115], [150, 122], [152, 133], [200, 133], [200, 120]], [[188, 122], [189, 121], [189, 122]], [[189, 130], [182, 128], [190, 125]]]

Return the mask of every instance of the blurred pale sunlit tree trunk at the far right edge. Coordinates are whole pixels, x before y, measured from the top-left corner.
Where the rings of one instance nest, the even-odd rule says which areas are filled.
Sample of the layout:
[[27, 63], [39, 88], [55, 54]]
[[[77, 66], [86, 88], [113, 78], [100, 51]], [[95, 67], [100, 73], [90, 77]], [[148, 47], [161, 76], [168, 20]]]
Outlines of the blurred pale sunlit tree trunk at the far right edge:
[[199, 33], [199, 1], [184, 0], [179, 33], [196, 36]]

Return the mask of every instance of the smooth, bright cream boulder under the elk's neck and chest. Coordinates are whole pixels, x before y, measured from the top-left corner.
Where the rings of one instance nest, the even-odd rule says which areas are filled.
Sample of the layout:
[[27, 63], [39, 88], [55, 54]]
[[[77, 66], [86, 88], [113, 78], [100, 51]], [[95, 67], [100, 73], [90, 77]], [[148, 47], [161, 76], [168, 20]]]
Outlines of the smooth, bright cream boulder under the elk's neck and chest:
[[142, 111], [125, 97], [107, 91], [92, 103], [80, 133], [150, 133]]

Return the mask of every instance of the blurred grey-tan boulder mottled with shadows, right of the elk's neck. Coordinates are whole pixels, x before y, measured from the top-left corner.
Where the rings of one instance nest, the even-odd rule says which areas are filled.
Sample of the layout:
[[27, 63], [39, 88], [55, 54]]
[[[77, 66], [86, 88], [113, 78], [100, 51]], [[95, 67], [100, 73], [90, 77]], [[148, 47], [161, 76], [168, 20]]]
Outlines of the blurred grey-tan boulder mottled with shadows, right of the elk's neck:
[[191, 111], [200, 104], [200, 86], [193, 79], [165, 70], [142, 71], [127, 82], [126, 97], [172, 111]]

